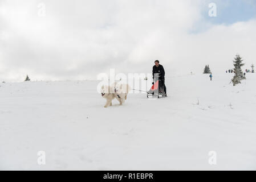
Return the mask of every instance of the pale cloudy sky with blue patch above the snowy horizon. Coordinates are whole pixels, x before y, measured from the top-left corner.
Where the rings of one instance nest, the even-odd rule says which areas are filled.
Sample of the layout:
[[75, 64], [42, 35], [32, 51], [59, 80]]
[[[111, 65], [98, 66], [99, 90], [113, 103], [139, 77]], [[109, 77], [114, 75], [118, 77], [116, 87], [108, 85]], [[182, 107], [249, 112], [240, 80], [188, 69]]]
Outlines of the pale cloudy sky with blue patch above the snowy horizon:
[[[216, 3], [217, 16], [209, 16]], [[218, 74], [256, 64], [255, 0], [0, 0], [0, 81], [99, 73]]]

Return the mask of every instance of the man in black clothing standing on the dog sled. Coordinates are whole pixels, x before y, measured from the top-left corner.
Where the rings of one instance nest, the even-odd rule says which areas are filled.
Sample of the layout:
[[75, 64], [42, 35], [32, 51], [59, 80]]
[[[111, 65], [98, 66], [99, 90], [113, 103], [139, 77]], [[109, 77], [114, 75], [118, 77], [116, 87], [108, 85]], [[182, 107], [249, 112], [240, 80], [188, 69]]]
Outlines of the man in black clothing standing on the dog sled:
[[[159, 64], [159, 60], [155, 61], [155, 65], [153, 66], [153, 79], [155, 79], [155, 74], [158, 73], [159, 74], [159, 88], [160, 88], [160, 92], [162, 91], [162, 89], [164, 90], [164, 96], [166, 96], [166, 86], [164, 84], [165, 81], [165, 71], [164, 71], [164, 67], [162, 67], [161, 64]], [[152, 83], [154, 84], [154, 83]]]

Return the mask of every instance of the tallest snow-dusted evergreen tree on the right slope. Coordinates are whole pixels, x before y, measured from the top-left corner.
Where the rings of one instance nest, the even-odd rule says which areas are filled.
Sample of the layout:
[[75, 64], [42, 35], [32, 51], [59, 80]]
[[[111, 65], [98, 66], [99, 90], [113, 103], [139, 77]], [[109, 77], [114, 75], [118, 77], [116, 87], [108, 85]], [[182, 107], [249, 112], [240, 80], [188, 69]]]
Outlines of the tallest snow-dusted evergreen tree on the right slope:
[[233, 61], [234, 63], [234, 77], [232, 78], [233, 85], [241, 84], [241, 80], [246, 79], [245, 76], [243, 75], [241, 67], [245, 65], [242, 63], [242, 57], [240, 55], [235, 56], [235, 60]]

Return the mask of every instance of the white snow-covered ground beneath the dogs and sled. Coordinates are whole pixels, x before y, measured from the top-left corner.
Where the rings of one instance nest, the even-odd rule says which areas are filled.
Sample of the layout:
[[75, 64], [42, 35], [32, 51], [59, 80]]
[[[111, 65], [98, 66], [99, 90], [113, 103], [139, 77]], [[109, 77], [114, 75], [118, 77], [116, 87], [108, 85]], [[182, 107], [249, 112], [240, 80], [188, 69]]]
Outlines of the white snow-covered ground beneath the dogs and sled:
[[256, 169], [256, 74], [213, 76], [170, 77], [169, 97], [108, 108], [99, 81], [0, 84], [0, 169]]

